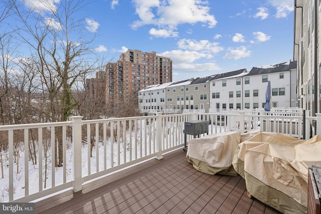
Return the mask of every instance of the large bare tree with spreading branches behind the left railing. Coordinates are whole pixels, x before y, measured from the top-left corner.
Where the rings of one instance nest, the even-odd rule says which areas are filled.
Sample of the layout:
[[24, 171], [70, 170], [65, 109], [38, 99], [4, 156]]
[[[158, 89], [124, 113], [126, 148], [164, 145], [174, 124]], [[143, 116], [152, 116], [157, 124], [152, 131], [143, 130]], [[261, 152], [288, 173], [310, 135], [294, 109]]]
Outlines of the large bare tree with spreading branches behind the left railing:
[[[42, 1], [43, 10], [28, 10], [12, 1], [20, 40], [31, 50], [32, 67], [37, 71], [37, 90], [48, 95], [48, 121], [66, 121], [77, 106], [72, 89], [80, 77], [95, 71], [96, 56], [90, 45], [85, 19], [78, 18], [85, 1], [62, 1], [59, 5]], [[78, 13], [78, 14], [77, 14]], [[87, 34], [84, 34], [86, 32]], [[56, 166], [62, 166], [62, 136], [57, 131]]]

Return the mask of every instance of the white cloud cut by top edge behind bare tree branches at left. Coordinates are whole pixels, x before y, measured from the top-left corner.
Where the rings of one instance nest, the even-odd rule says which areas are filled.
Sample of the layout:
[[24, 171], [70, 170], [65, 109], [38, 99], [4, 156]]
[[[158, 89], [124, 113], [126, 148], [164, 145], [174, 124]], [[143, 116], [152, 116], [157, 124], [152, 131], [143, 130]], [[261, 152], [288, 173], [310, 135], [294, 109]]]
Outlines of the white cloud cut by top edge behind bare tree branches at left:
[[24, 4], [25, 6], [36, 12], [36, 13], [42, 13], [42, 12], [56, 12], [57, 7], [55, 4], [60, 3], [60, 0], [47, 0], [47, 1], [39, 1], [39, 0], [25, 0]]

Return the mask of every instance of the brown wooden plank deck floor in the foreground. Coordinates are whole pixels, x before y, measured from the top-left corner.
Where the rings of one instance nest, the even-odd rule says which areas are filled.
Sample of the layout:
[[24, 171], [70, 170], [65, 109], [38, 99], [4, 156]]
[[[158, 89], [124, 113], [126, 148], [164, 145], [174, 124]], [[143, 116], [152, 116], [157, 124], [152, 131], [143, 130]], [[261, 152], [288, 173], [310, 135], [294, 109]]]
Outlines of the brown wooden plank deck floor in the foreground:
[[241, 176], [209, 175], [183, 149], [36, 202], [36, 213], [280, 213], [247, 196]]

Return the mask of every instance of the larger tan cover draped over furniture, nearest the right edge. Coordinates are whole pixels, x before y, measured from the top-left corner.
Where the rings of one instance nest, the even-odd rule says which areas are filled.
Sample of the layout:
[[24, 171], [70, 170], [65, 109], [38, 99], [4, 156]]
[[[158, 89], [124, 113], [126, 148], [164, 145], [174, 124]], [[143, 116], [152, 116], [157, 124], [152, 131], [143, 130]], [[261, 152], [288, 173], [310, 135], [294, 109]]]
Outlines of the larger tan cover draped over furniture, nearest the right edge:
[[307, 212], [308, 167], [321, 166], [321, 137], [260, 132], [237, 146], [233, 166], [247, 190], [282, 213]]

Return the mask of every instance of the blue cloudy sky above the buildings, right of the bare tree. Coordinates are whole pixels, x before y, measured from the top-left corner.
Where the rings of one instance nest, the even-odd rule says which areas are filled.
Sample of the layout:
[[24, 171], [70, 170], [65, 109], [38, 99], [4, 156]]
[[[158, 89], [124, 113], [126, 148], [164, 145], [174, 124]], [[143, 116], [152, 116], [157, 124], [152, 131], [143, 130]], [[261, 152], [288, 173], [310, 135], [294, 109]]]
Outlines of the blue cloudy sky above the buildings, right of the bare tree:
[[[39, 0], [25, 2], [40, 7]], [[173, 81], [178, 81], [291, 60], [293, 4], [293, 0], [96, 0], [82, 16], [88, 34], [97, 34], [93, 46], [98, 55], [115, 61], [127, 49], [155, 51], [173, 60]]]

